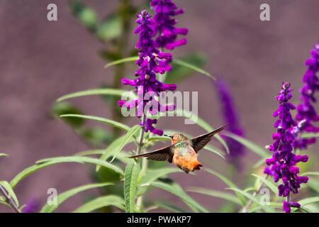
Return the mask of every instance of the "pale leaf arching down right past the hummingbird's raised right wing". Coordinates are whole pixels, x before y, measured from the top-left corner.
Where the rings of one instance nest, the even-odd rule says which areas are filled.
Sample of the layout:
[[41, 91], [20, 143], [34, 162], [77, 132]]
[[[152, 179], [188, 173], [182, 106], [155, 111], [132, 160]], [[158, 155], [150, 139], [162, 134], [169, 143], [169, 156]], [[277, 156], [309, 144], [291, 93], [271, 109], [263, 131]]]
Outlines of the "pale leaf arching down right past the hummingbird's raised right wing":
[[[190, 119], [191, 121], [193, 121], [198, 126], [200, 126], [201, 128], [205, 129], [208, 132], [211, 132], [214, 130], [213, 127], [211, 127], [206, 121], [196, 116], [196, 114], [192, 114], [190, 111], [186, 111], [183, 109], [176, 109], [174, 111], [174, 114], [176, 114], [177, 116], [183, 116], [184, 118]], [[214, 137], [216, 137], [216, 139], [219, 140], [219, 142], [224, 146], [226, 152], [229, 154], [229, 148], [225, 140], [223, 140], [223, 138], [221, 138], [220, 135], [218, 134], [214, 135]], [[219, 153], [219, 155], [221, 154]]]

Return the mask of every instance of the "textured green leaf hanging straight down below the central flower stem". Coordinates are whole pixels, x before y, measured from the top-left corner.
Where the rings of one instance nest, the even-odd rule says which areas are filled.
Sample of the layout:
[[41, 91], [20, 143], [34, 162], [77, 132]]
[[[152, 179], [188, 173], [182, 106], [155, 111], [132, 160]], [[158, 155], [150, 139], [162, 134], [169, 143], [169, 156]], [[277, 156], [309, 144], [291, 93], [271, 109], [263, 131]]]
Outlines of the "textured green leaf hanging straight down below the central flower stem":
[[138, 175], [140, 174], [140, 165], [133, 162], [125, 168], [124, 178], [124, 199], [126, 213], [135, 212], [135, 199], [138, 192]]

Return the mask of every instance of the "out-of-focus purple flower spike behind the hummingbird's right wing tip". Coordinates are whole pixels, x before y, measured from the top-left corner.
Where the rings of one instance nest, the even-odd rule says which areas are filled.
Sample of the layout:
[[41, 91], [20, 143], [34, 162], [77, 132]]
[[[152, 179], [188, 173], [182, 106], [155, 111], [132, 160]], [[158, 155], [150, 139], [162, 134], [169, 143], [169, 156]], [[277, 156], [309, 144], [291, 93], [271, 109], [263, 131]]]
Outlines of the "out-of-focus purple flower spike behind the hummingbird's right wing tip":
[[[225, 123], [228, 123], [228, 131], [234, 133], [235, 135], [244, 135], [242, 128], [240, 127], [235, 105], [233, 104], [233, 99], [227, 84], [223, 80], [218, 79], [216, 81], [216, 88], [224, 121]], [[237, 162], [237, 160], [238, 157], [245, 152], [244, 147], [241, 143], [237, 142], [237, 140], [234, 140], [233, 138], [230, 138], [228, 136], [223, 136], [223, 138], [225, 139], [225, 142], [227, 143], [230, 150], [230, 162], [233, 162], [235, 165], [237, 165], [237, 167], [239, 167], [239, 163]]]

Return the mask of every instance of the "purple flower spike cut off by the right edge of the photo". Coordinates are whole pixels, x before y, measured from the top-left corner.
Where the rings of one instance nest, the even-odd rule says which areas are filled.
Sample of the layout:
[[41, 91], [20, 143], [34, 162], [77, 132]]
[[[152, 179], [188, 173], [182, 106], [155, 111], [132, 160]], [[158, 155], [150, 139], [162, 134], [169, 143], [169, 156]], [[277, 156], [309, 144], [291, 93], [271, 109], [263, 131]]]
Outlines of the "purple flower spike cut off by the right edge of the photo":
[[315, 92], [319, 89], [319, 79], [316, 73], [319, 70], [319, 43], [311, 50], [311, 57], [306, 60], [308, 66], [306, 74], [303, 76], [303, 87], [301, 88], [301, 104], [297, 107], [296, 120], [298, 127], [292, 129], [296, 140], [293, 142], [294, 148], [307, 148], [308, 145], [315, 143], [315, 138], [301, 138], [301, 133], [313, 132], [318, 133], [319, 127], [313, 126], [312, 122], [319, 121], [319, 116], [313, 107], [316, 103]]

